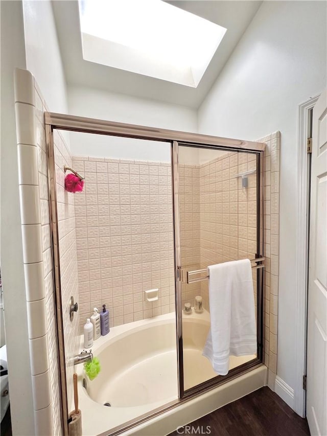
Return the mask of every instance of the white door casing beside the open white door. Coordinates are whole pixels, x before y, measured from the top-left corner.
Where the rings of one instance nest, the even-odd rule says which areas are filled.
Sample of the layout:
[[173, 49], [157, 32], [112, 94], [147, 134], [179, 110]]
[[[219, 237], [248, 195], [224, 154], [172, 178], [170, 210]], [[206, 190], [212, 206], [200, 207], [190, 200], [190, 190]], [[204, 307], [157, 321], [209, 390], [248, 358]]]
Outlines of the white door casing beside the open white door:
[[303, 375], [307, 373], [307, 321], [308, 321], [308, 262], [309, 262], [309, 200], [310, 159], [307, 139], [310, 137], [310, 112], [319, 96], [310, 98], [298, 106], [297, 140], [297, 237], [296, 237], [296, 342], [294, 410], [306, 417], [306, 391]]

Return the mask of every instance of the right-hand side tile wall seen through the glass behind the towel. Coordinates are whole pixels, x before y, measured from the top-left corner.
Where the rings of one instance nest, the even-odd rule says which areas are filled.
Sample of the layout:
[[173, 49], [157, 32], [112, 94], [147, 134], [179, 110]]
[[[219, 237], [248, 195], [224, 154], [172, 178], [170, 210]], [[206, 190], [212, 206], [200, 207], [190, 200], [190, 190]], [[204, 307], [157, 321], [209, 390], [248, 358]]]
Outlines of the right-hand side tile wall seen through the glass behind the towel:
[[[256, 253], [256, 156], [227, 152], [200, 166], [200, 258], [201, 268], [238, 259], [253, 259]], [[256, 302], [256, 273], [253, 272]], [[209, 309], [208, 282], [201, 282], [204, 306]]]

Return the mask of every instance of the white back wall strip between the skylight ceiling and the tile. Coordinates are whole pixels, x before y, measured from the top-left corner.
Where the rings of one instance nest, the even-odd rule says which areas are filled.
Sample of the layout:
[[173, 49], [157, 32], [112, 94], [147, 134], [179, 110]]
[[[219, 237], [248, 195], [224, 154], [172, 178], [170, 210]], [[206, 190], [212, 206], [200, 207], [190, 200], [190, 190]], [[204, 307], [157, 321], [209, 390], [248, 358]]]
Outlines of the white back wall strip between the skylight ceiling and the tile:
[[[197, 112], [193, 109], [174, 104], [162, 103], [155, 100], [140, 99], [122, 94], [109, 93], [103, 90], [80, 86], [68, 86], [69, 113], [80, 117], [98, 118], [101, 120], [120, 123], [138, 124], [148, 127], [159, 127], [171, 130], [196, 132]], [[73, 155], [104, 156], [106, 143], [110, 149], [110, 142], [105, 137], [99, 137], [95, 142], [93, 135], [78, 136], [71, 134], [71, 151]], [[117, 141], [118, 142], [118, 141]], [[128, 144], [132, 142], [128, 141]], [[162, 148], [153, 146], [142, 151], [141, 148], [122, 146], [115, 151], [115, 157], [122, 159], [167, 160], [167, 153], [162, 154]], [[111, 142], [112, 143], [112, 142]], [[123, 144], [121, 141], [120, 144]], [[165, 147], [166, 148], [166, 147]], [[110, 150], [112, 152], [113, 149]], [[130, 157], [129, 157], [130, 156]], [[165, 157], [166, 156], [166, 157]]]

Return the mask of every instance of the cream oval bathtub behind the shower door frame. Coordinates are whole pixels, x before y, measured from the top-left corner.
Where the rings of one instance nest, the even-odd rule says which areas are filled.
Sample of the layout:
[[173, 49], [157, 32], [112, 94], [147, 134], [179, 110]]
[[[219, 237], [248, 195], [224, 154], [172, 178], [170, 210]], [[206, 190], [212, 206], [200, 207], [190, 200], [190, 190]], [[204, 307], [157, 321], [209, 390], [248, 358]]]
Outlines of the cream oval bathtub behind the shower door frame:
[[[202, 356], [208, 329], [208, 312], [183, 315], [185, 389], [217, 375], [213, 371], [211, 363]], [[81, 349], [83, 349], [82, 337]], [[102, 432], [108, 434], [109, 429], [121, 426], [140, 416], [149, 415], [151, 411], [166, 404], [178, 402], [175, 313], [113, 327], [108, 335], [101, 336], [95, 341], [92, 352], [101, 363], [101, 372], [96, 379], [90, 381], [85, 377], [83, 365], [76, 366], [79, 379], [79, 407], [82, 410], [84, 435], [95, 435]], [[231, 356], [230, 369], [245, 361], [252, 360], [254, 357]], [[247, 386], [247, 390], [250, 389], [249, 392], [266, 384], [266, 367], [263, 365], [262, 367], [258, 378], [258, 387], [255, 387], [258, 381], [254, 383], [252, 381]], [[247, 374], [241, 377], [244, 376]], [[245, 384], [247, 385], [247, 383]], [[214, 391], [217, 391], [219, 387], [209, 392], [214, 394]], [[231, 391], [229, 396], [230, 393]], [[240, 389], [239, 394], [236, 391], [235, 399], [246, 395], [246, 393], [242, 394], [242, 389]], [[184, 424], [200, 417], [198, 411], [201, 410], [201, 407], [199, 406], [190, 415], [192, 401], [198, 401], [207, 394], [202, 394], [196, 399], [183, 402], [178, 407], [171, 409], [169, 411], [170, 418], [174, 415], [177, 425], [181, 425], [182, 416], [186, 420], [183, 422]], [[233, 401], [233, 399], [229, 401]], [[224, 402], [224, 404], [229, 401]], [[205, 413], [215, 410], [219, 406], [217, 399], [212, 404], [213, 408]], [[71, 408], [73, 409], [73, 406]], [[145, 422], [141, 426], [142, 430], [139, 434], [159, 435], [173, 431], [176, 425], [171, 419], [164, 424], [165, 414], [167, 412]], [[189, 415], [192, 417], [188, 418]], [[155, 428], [151, 425], [155, 425]], [[162, 425], [164, 427], [160, 430]], [[150, 431], [149, 433], [147, 433], [147, 429]], [[138, 434], [137, 431], [137, 428], [134, 427], [125, 434]]]

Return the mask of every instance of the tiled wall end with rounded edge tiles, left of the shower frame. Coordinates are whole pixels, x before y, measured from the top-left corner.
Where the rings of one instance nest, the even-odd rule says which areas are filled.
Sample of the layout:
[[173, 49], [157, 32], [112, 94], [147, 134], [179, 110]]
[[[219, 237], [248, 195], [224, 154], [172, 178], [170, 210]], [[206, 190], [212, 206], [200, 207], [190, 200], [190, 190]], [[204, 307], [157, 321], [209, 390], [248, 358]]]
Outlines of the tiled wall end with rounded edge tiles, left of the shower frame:
[[[46, 178], [45, 103], [26, 70], [15, 70], [22, 243], [37, 434], [62, 434]], [[41, 386], [41, 388], [40, 388]]]

